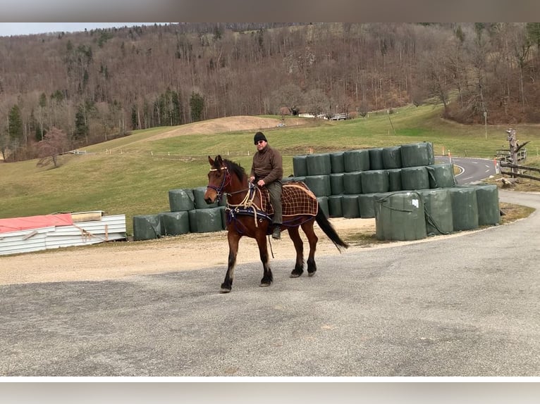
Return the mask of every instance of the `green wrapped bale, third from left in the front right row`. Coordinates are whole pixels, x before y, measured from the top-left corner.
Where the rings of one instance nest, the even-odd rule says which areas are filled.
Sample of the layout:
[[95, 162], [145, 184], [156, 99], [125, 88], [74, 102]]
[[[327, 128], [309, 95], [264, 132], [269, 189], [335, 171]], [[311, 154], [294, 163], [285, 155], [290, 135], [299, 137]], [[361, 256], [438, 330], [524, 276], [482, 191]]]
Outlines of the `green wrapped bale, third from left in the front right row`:
[[454, 232], [477, 229], [478, 201], [473, 187], [448, 188], [452, 198], [452, 217]]

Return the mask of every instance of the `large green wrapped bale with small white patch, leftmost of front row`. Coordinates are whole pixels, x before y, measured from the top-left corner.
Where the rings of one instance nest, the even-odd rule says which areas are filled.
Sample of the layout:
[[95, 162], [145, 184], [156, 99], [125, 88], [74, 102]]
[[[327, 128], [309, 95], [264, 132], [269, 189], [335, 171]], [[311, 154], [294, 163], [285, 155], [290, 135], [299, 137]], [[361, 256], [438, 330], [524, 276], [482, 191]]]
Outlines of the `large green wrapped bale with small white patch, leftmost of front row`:
[[375, 228], [379, 240], [425, 239], [424, 204], [417, 192], [394, 192], [375, 198]]

